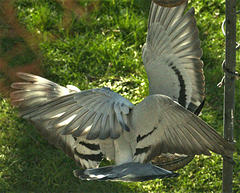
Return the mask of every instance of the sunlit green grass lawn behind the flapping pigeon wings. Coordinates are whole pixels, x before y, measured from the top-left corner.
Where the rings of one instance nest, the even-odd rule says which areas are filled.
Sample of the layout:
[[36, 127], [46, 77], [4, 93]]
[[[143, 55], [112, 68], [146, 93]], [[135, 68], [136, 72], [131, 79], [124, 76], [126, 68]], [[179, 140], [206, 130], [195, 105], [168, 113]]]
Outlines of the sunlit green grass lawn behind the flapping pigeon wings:
[[[108, 86], [134, 104], [140, 102], [148, 95], [141, 48], [150, 1], [11, 2], [3, 2], [0, 9], [0, 192], [221, 191], [222, 158], [215, 154], [197, 156], [178, 171], [179, 178], [143, 183], [80, 181], [72, 174], [76, 169], [72, 160], [18, 118], [10, 105], [7, 93], [16, 71], [38, 73], [81, 90]], [[216, 85], [223, 75], [224, 1], [190, 1], [190, 6], [196, 9], [204, 51], [207, 97], [201, 118], [222, 133], [223, 88]], [[234, 192], [240, 189], [239, 87], [236, 81]]]

